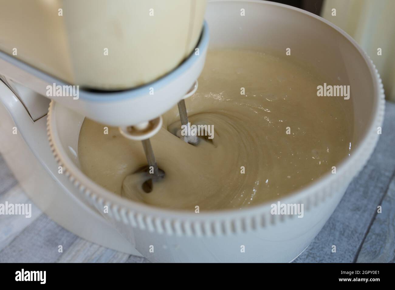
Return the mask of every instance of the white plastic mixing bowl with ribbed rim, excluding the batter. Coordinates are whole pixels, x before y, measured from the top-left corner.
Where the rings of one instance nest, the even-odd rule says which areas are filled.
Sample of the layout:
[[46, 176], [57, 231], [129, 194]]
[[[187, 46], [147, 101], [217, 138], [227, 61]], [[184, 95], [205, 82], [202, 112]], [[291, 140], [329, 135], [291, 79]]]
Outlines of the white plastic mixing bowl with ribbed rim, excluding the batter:
[[[337, 166], [336, 174], [329, 173], [281, 200], [304, 204], [303, 218], [271, 215], [272, 202], [243, 210], [186, 213], [121, 198], [80, 170], [77, 143], [84, 116], [54, 101], [48, 115], [51, 148], [87, 201], [152, 262], [290, 262], [324, 226], [376, 145], [384, 114], [380, 77], [350, 36], [294, 7], [265, 1], [213, 1], [205, 19], [210, 47], [258, 48], [284, 55], [291, 48], [293, 57], [350, 85], [348, 101], [354, 111], [350, 156]], [[104, 206], [109, 213], [103, 213]]]

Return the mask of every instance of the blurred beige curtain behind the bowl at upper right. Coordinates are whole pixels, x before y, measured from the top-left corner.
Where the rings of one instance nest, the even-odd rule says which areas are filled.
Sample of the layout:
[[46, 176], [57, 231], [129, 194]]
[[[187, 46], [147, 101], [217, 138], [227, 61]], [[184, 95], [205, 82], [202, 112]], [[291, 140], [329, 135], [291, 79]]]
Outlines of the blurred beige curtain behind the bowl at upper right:
[[[332, 9], [336, 16], [332, 16]], [[325, 0], [322, 17], [350, 34], [370, 56], [395, 101], [395, 0]], [[381, 48], [382, 55], [378, 55]]]

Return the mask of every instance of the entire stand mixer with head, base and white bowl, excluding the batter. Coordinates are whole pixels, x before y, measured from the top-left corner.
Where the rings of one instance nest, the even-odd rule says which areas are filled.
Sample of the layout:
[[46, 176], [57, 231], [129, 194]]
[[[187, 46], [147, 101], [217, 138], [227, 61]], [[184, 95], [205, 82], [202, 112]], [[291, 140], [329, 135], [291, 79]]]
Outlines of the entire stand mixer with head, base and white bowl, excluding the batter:
[[[78, 54], [73, 52], [73, 49], [84, 47], [94, 51], [89, 49], [90, 43], [96, 46], [100, 42], [100, 34], [84, 34], [83, 30], [75, 29], [75, 26], [92, 31], [100, 26], [99, 31], [105, 30], [108, 37], [116, 40], [124, 35], [124, 30], [114, 23], [117, 18], [122, 21], [130, 19], [125, 13], [134, 11], [131, 6], [143, 7], [142, 15], [150, 17], [150, 6], [161, 5], [162, 2], [165, 3], [162, 6], [164, 9], [154, 8], [152, 19], [159, 16], [160, 11], [175, 11], [175, 14], [167, 15], [167, 21], [157, 26], [156, 36], [163, 36], [161, 39], [165, 45], [160, 48], [150, 46], [150, 49], [167, 52], [151, 53], [152, 51], [147, 51], [147, 47], [136, 41], [136, 49], [140, 47], [142, 51], [138, 56], [147, 52], [152, 57], [160, 57], [151, 63], [156, 65], [137, 66], [137, 71], [141, 74], [133, 80], [134, 83], [131, 81], [131, 66], [121, 57], [119, 62], [112, 59], [107, 64], [102, 63], [104, 68], [95, 65], [101, 63], [98, 61], [101, 58], [117, 56], [112, 53], [113, 49], [108, 42], [100, 43], [96, 56], [84, 53], [78, 58]], [[12, 21], [18, 16], [17, 13], [11, 16], [13, 6], [21, 6], [15, 11], [27, 10], [21, 20], [32, 19], [32, 15], [41, 15], [40, 13], [48, 10], [34, 9], [36, 3], [38, 2], [30, 1], [25, 4], [21, 1], [4, 1], [0, 11], [0, 21], [5, 22], [1, 22], [3, 27], [23, 26], [23, 21]], [[39, 3], [45, 7], [55, 3], [49, 11], [55, 11], [56, 20], [62, 19], [58, 17], [60, 2]], [[52, 45], [48, 45], [49, 40], [45, 36], [31, 33], [30, 26], [24, 25], [23, 29], [18, 29], [22, 42], [24, 39], [41, 38], [40, 41], [27, 45], [26, 49], [21, 49], [21, 46], [13, 45], [12, 41], [5, 41], [6, 34], [11, 38], [17, 37], [12, 30], [2, 31], [0, 34], [0, 75], [3, 76], [3, 82], [0, 82], [0, 134], [5, 136], [5, 141], [0, 143], [0, 151], [32, 200], [56, 223], [82, 238], [111, 249], [145, 256], [152, 262], [290, 262], [304, 251], [335, 210], [352, 178], [369, 159], [378, 140], [377, 127], [382, 124], [384, 92], [381, 80], [369, 57], [355, 41], [316, 15], [267, 1], [209, 1], [205, 14], [207, 24], [204, 25], [204, 2], [198, 0], [117, 1], [114, 7], [118, 7], [118, 17], [113, 10], [115, 8], [111, 8], [110, 4], [108, 6], [109, 15], [115, 15], [112, 21], [106, 20], [106, 13], [100, 14], [102, 10], [99, 7], [105, 3], [103, 1], [71, 0], [61, 3], [62, 17], [67, 13], [75, 13], [79, 15], [78, 19], [83, 20], [86, 17], [87, 20], [86, 25], [81, 25], [78, 21], [68, 23], [67, 18], [65, 22], [58, 23], [61, 29], [67, 28], [68, 33], [63, 34], [67, 38], [46, 33], [48, 39], [57, 39]], [[171, 41], [170, 36], [177, 34], [182, 27], [190, 27], [190, 13], [193, 10], [191, 5], [196, 5], [194, 19], [197, 22], [196, 25], [191, 24], [196, 28], [196, 34], [192, 33], [194, 37], [190, 37], [190, 42], [185, 39], [181, 49], [177, 45], [180, 43], [176, 41], [177, 37]], [[89, 9], [83, 9], [85, 6]], [[179, 13], [180, 9], [182, 13]], [[245, 11], [244, 17], [240, 14], [241, 10]], [[123, 13], [124, 11], [126, 12]], [[201, 11], [201, 18], [198, 17], [198, 11]], [[185, 21], [174, 21], [180, 15], [185, 17]], [[99, 23], [93, 21], [92, 18], [95, 17], [99, 19]], [[47, 16], [35, 19], [49, 18]], [[103, 25], [100, 21], [108, 25]], [[49, 27], [47, 23], [42, 21], [41, 29], [50, 30], [56, 26], [54, 24]], [[135, 26], [128, 27], [144, 28], [148, 22], [136, 23]], [[171, 28], [166, 26], [170, 23], [174, 24]], [[301, 219], [272, 215], [271, 202], [242, 210], [208, 213], [152, 207], [113, 194], [88, 178], [81, 170], [76, 149], [85, 117], [105, 125], [121, 127], [121, 132], [130, 137], [135, 129], [144, 131], [147, 122], [150, 125], [151, 120], [155, 120], [151, 122], [152, 128], [160, 127], [159, 116], [179, 103], [181, 122], [187, 123], [182, 100], [196, 89], [196, 79], [203, 67], [208, 46], [207, 26], [210, 27], [211, 48], [258, 48], [261, 51], [284, 54], [286, 48], [290, 47], [292, 57], [312, 64], [317, 71], [325, 71], [331, 78], [342, 79], [354, 90], [356, 97], [350, 98], [354, 111], [354, 116], [350, 116], [350, 122], [354, 123], [355, 128], [354, 151], [339, 165], [337, 174], [328, 174], [281, 200], [285, 204], [305, 204], [304, 216]], [[25, 33], [22, 36], [23, 32]], [[81, 37], [84, 35], [88, 37], [86, 41]], [[188, 33], [183, 35], [186, 37]], [[65, 42], [65, 39], [69, 41]], [[191, 46], [188, 47], [186, 43]], [[41, 50], [34, 47], [37, 44], [41, 46]], [[14, 47], [18, 48], [18, 58], [12, 55]], [[105, 48], [108, 49], [108, 56], [103, 55]], [[38, 52], [36, 55], [41, 56], [39, 61], [32, 62], [37, 60], [33, 56], [22, 59], [28, 51]], [[64, 53], [60, 53], [63, 51]], [[64, 57], [54, 58], [55, 52]], [[174, 54], [169, 54], [171, 52]], [[123, 55], [132, 54], [129, 50]], [[88, 61], [89, 58], [92, 61]], [[144, 60], [143, 57], [136, 59]], [[163, 66], [164, 69], [160, 71], [157, 69], [161, 66], [158, 59], [173, 59], [173, 62], [167, 67]], [[57, 62], [64, 65], [56, 65]], [[126, 67], [124, 70], [119, 69], [123, 62]], [[51, 65], [54, 63], [55, 65]], [[132, 68], [132, 71], [136, 71]], [[153, 73], [154, 70], [157, 73], [155, 76], [147, 77], [144, 74]], [[4, 81], [8, 83], [7, 86]], [[53, 83], [61, 86], [81, 84], [78, 99], [56, 94], [47, 97], [46, 87], [53, 87]], [[111, 83], [117, 86], [112, 87]], [[150, 94], [150, 88], [153, 88], [154, 94]], [[48, 111], [49, 99], [53, 101]], [[48, 121], [47, 118], [42, 118], [47, 112]], [[134, 128], [130, 128], [131, 125]], [[13, 127], [18, 129], [18, 134], [11, 133]], [[150, 130], [150, 134], [154, 132], [155, 130]], [[47, 142], [47, 133], [50, 144]], [[150, 137], [148, 134], [142, 138], [146, 140]], [[193, 145], [187, 146], [193, 149]], [[149, 149], [148, 144], [146, 147]], [[150, 156], [149, 152], [147, 156]], [[149, 162], [154, 165], [153, 159]], [[59, 167], [66, 169], [65, 174], [59, 174]], [[103, 206], [108, 207], [108, 213], [103, 214]], [[150, 251], [151, 245], [155, 247], [154, 252]], [[242, 252], [241, 247], [245, 247], [246, 251]]]

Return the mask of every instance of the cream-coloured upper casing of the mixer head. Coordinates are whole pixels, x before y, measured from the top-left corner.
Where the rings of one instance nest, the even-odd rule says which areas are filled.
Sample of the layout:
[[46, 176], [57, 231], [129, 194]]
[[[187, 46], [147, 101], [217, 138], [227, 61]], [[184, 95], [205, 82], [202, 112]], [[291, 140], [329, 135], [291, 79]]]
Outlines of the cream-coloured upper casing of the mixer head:
[[0, 25], [13, 27], [0, 33], [0, 51], [67, 84], [118, 91], [153, 82], [188, 58], [201, 35], [206, 1], [0, 5]]

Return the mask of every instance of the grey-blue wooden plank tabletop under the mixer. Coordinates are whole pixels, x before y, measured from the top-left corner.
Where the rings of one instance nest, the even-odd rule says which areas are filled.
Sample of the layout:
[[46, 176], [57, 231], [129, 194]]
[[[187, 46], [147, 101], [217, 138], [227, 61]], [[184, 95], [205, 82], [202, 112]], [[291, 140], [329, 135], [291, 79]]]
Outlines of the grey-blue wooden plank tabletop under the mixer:
[[[378, 145], [324, 228], [298, 258], [303, 262], [395, 262], [395, 104], [386, 103]], [[0, 203], [32, 203], [0, 156]], [[382, 213], [377, 213], [377, 206]], [[0, 262], [149, 262], [81, 239], [32, 203], [30, 219], [0, 215]], [[63, 253], [53, 251], [62, 240]], [[336, 253], [331, 246], [336, 245]], [[57, 246], [56, 246], [57, 248]]]

